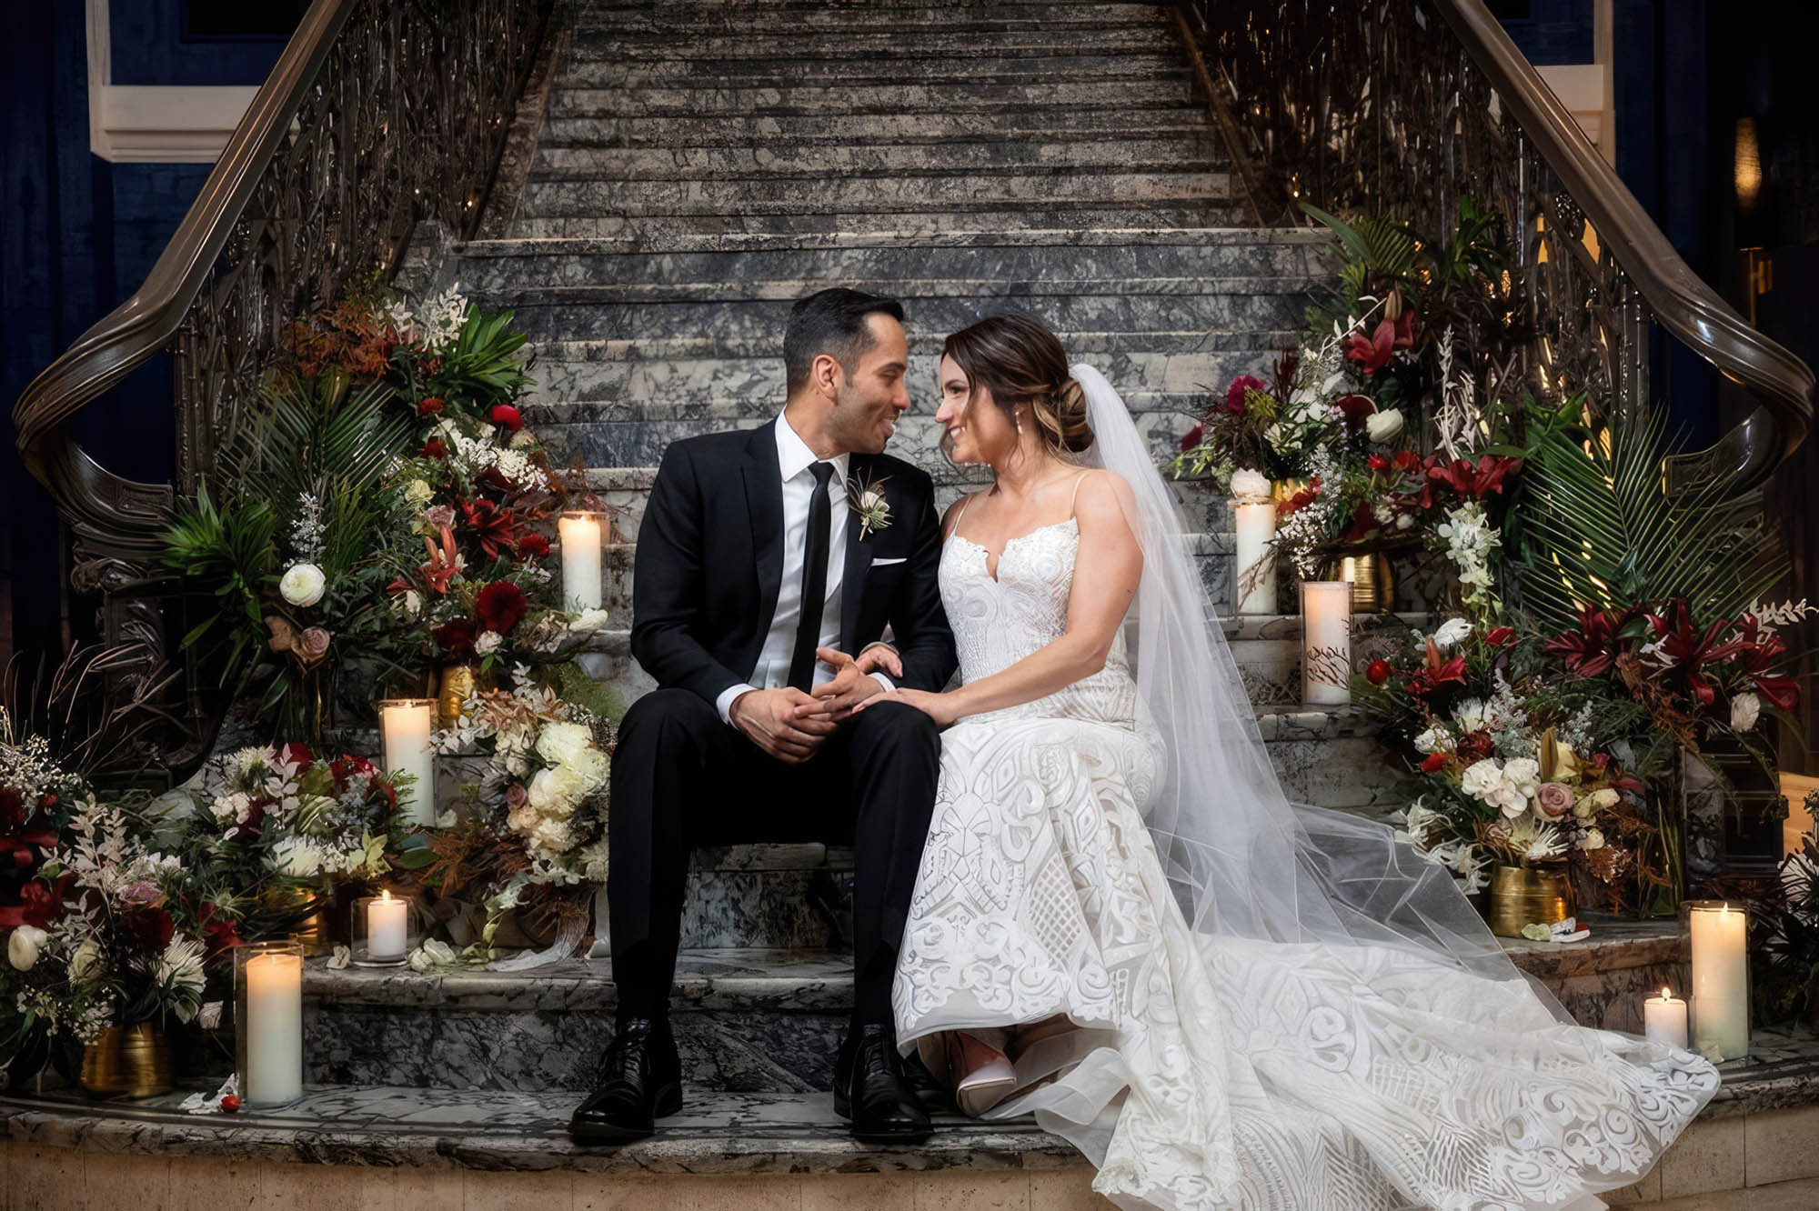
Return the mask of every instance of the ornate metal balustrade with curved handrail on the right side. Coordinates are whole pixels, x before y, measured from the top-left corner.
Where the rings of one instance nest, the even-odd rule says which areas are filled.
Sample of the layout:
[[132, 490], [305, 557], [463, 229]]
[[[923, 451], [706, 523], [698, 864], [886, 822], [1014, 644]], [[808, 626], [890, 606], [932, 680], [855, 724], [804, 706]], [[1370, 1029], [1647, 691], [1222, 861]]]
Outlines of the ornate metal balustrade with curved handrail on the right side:
[[1293, 222], [1304, 200], [1450, 231], [1459, 198], [1477, 196], [1510, 220], [1535, 309], [1515, 382], [1623, 405], [1648, 398], [1650, 364], [1677, 340], [1755, 409], [1677, 455], [1672, 475], [1735, 473], [1754, 489], [1799, 445], [1812, 371], [1681, 260], [1481, 0], [1188, 0], [1179, 13], [1264, 222]]

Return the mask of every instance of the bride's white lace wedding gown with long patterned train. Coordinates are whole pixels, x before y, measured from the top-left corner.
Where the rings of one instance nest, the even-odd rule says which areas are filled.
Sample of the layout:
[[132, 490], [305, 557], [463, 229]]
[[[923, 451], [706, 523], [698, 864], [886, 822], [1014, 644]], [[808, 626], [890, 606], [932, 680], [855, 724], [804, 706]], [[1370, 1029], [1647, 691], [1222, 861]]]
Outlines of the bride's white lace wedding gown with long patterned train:
[[[942, 602], [977, 680], [1066, 629], [1073, 520], [950, 538]], [[1102, 671], [942, 733], [893, 986], [900, 1044], [1035, 1024], [1019, 1093], [1124, 1207], [1601, 1206], [1717, 1089], [1686, 1051], [1559, 1022], [1512, 969], [1390, 946], [1190, 931], [1144, 826], [1164, 767], [1119, 638]]]

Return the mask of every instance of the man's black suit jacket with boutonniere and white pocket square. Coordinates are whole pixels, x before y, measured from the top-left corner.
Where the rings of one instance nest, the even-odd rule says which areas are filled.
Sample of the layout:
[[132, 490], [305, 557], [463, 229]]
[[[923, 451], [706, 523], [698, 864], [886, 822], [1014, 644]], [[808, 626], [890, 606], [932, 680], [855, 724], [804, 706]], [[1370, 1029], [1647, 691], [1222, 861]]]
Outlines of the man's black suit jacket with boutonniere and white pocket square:
[[[889, 624], [904, 664], [897, 682], [940, 689], [957, 660], [937, 582], [935, 484], [889, 455], [851, 455], [848, 473], [882, 482], [889, 525], [860, 538], [859, 516], [848, 518], [842, 649], [857, 655]], [[658, 686], [715, 702], [751, 676], [777, 611], [786, 540], [804, 536], [784, 536], [775, 422], [664, 451], [631, 595], [631, 655]]]

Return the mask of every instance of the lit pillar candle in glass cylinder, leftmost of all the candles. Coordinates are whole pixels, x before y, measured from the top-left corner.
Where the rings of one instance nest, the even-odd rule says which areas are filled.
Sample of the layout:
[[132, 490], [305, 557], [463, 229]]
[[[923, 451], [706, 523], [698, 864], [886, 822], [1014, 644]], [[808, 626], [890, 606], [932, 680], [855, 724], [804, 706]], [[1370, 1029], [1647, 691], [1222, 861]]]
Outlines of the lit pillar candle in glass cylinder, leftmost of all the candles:
[[235, 1058], [244, 1106], [304, 1096], [304, 946], [249, 942], [233, 953]]

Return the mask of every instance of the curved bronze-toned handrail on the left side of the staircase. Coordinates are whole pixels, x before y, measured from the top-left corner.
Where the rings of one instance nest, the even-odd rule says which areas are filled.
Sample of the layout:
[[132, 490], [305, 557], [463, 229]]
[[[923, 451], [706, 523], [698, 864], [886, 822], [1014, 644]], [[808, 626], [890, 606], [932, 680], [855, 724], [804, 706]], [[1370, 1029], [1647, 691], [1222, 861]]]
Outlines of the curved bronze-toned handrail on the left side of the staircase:
[[[60, 489], [109, 473], [80, 449], [65, 444], [58, 444], [60, 449], [55, 451], [47, 447], [89, 400], [151, 360], [176, 336], [355, 4], [357, 0], [315, 0], [309, 5], [144, 285], [82, 333], [20, 395], [13, 407], [20, 458], [60, 504], [80, 509], [91, 495]], [[151, 491], [151, 485], [140, 487]]]

